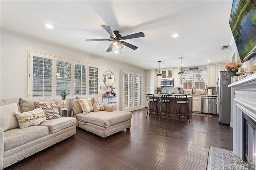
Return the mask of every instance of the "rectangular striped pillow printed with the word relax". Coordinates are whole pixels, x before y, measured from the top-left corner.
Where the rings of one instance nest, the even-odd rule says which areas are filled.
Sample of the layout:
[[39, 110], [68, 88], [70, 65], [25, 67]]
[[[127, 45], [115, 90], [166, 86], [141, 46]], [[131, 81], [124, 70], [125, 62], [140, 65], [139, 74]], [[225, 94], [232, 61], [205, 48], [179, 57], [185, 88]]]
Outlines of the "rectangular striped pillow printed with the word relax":
[[22, 113], [15, 112], [14, 114], [16, 115], [19, 126], [21, 128], [36, 126], [46, 121], [46, 116], [41, 107], [34, 109], [32, 111], [26, 111]]

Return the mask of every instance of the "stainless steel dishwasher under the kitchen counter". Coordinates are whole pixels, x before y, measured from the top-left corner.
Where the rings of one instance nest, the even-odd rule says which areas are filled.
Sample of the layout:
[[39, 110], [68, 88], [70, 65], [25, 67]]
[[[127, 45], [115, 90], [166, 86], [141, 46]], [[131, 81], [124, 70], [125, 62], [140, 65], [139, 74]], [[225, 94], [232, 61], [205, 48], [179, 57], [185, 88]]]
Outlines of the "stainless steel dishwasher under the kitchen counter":
[[201, 96], [201, 112], [217, 114], [217, 97]]

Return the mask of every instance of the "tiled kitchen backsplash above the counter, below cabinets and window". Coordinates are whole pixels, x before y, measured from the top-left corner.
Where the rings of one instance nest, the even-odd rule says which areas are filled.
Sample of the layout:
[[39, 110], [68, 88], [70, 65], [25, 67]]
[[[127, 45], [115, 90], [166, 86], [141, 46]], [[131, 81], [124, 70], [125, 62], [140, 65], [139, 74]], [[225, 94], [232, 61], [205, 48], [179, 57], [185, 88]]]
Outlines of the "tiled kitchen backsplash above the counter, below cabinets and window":
[[[209, 89], [212, 89], [212, 95], [217, 95], [216, 88], [209, 88]], [[160, 93], [169, 93], [169, 91], [170, 91], [172, 94], [179, 94], [178, 88], [174, 88], [174, 87], [170, 87], [170, 86], [156, 88], [154, 93], [157, 94], [158, 91]], [[200, 91], [196, 90], [194, 92], [196, 95], [207, 94], [205, 92], [205, 90], [200, 90]], [[184, 90], [183, 94], [192, 94], [192, 89]]]

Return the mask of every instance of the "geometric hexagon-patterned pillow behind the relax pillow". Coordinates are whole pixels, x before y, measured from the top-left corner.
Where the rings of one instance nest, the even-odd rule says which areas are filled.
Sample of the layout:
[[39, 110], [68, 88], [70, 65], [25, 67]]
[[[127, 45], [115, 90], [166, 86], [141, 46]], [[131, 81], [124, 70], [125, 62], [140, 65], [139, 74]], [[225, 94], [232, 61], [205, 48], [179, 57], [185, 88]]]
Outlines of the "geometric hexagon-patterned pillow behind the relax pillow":
[[36, 108], [42, 107], [46, 120], [61, 117], [58, 110], [58, 102], [34, 102]]

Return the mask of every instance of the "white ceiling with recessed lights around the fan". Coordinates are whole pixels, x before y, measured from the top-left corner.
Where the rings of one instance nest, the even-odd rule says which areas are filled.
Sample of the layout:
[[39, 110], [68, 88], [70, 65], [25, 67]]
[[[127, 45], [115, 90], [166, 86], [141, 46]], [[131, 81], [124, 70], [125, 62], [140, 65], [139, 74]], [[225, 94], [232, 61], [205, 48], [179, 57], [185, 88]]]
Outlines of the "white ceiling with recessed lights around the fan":
[[[192, 67], [228, 61], [232, 32], [229, 17], [232, 0], [180, 1], [3, 1], [1, 29], [28, 35], [90, 55], [143, 69]], [[54, 25], [46, 29], [43, 23]], [[121, 54], [106, 52], [111, 41], [101, 27], [108, 25], [122, 36], [143, 32], [145, 37], [127, 39]], [[179, 38], [172, 38], [180, 33]], [[211, 62], [206, 62], [211, 60]]]

